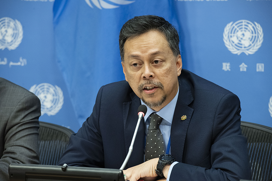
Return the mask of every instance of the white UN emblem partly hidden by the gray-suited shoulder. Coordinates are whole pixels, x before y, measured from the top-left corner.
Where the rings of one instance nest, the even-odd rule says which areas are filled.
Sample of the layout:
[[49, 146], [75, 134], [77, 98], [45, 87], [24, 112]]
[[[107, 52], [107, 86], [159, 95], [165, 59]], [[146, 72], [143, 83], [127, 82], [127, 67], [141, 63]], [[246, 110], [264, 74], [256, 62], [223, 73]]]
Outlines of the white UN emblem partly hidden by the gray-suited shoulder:
[[45, 113], [48, 116], [57, 114], [63, 105], [63, 92], [60, 87], [55, 87], [48, 83], [33, 85], [30, 90], [39, 99], [41, 104], [41, 115]]

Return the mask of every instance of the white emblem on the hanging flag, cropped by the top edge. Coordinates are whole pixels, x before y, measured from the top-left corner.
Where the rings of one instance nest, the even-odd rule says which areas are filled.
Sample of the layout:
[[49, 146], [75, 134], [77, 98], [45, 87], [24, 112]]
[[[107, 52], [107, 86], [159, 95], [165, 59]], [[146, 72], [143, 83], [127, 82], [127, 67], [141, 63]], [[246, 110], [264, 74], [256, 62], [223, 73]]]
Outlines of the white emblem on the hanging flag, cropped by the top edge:
[[[128, 1], [128, 0], [109, 0], [111, 1], [113, 4], [109, 4], [103, 0], [91, 0], [92, 3], [99, 9], [105, 8], [105, 9], [113, 9], [113, 8], [118, 8], [118, 5], [128, 5], [130, 3], [133, 3], [135, 1]], [[85, 2], [91, 7], [92, 3], [90, 2], [90, 0], [85, 0]]]

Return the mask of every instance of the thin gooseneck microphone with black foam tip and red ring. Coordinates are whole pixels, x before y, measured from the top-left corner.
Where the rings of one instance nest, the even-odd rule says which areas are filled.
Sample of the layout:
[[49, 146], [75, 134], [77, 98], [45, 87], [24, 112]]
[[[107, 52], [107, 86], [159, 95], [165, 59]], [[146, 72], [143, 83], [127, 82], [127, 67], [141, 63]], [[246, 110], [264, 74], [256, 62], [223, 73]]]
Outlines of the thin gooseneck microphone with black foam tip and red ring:
[[134, 144], [134, 141], [135, 141], [135, 138], [136, 138], [136, 135], [137, 135], [137, 131], [138, 131], [141, 119], [144, 117], [146, 112], [147, 112], [147, 107], [145, 105], [140, 105], [138, 107], [138, 122], [137, 122], [137, 125], [136, 125], [136, 128], [135, 128], [135, 131], [134, 131], [134, 135], [133, 135], [130, 147], [128, 149], [127, 157], [125, 158], [125, 161], [123, 162], [123, 164], [122, 164], [122, 166], [121, 166], [121, 168], [119, 170], [124, 170], [126, 164], [128, 163], [128, 159], [129, 159], [129, 157], [131, 155], [131, 152], [133, 150], [133, 144]]

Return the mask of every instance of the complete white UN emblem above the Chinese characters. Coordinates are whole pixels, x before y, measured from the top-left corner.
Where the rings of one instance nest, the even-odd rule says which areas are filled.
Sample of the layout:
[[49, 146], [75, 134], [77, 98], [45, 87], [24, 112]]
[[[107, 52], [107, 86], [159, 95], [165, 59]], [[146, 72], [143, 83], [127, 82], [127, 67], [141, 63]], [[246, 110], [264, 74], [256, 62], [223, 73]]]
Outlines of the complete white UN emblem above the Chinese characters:
[[255, 53], [263, 42], [263, 29], [256, 22], [247, 20], [230, 22], [224, 29], [223, 40], [225, 46], [233, 54], [246, 55]]

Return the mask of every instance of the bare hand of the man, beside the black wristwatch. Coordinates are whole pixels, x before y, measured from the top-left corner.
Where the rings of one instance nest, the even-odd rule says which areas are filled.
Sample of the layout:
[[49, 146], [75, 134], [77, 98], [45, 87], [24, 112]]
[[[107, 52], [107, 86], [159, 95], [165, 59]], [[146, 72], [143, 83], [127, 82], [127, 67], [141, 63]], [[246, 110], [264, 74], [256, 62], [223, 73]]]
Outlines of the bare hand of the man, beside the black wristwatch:
[[[140, 165], [128, 168], [127, 170], [123, 170], [123, 173], [127, 175], [127, 179], [129, 181], [137, 181], [140, 178], [144, 181], [156, 180], [157, 174], [155, 172], [155, 169], [157, 168], [158, 161], [159, 158], [145, 161]], [[161, 179], [161, 181], [163, 180], [164, 179]]]

